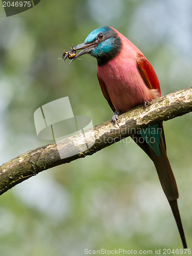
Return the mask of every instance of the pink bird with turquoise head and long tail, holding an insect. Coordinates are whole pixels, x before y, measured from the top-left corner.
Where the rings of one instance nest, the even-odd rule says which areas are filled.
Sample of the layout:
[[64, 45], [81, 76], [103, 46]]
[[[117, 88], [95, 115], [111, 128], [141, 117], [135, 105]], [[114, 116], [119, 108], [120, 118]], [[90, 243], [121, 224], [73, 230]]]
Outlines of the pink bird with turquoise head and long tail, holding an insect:
[[[76, 53], [77, 50], [81, 51]], [[150, 101], [161, 96], [160, 83], [151, 63], [116, 29], [109, 26], [95, 29], [82, 44], [63, 54], [63, 58], [69, 57], [72, 62], [84, 54], [90, 54], [97, 59], [97, 77], [101, 91], [114, 112], [112, 120], [116, 124], [120, 114], [139, 104], [143, 104], [145, 109], [147, 104], [151, 104]], [[162, 122], [132, 134], [131, 137], [154, 162], [183, 248], [187, 248], [177, 202], [178, 187], [166, 154]]]

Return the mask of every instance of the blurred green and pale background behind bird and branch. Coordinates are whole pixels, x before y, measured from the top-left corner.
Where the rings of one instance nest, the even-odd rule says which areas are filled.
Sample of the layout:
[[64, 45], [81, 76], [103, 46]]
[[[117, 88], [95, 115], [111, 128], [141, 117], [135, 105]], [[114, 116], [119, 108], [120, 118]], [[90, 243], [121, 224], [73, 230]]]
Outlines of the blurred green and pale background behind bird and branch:
[[[71, 65], [61, 52], [101, 26], [112, 26], [150, 60], [162, 95], [191, 86], [190, 0], [43, 1], [6, 17], [0, 6], [0, 164], [51, 141], [37, 138], [33, 114], [69, 96], [74, 115], [99, 124], [112, 117], [96, 60]], [[192, 247], [191, 114], [164, 123], [179, 208]], [[54, 167], [0, 197], [1, 255], [84, 255], [84, 249], [182, 248], [152, 161], [123, 140]]]

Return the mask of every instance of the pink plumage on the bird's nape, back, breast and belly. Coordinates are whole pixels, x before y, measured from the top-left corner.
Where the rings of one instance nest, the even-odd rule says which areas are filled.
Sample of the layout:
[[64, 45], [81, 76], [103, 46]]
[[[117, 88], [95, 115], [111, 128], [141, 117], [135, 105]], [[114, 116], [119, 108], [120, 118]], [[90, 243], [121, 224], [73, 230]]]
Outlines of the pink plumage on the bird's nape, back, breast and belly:
[[[138, 58], [144, 55], [129, 39], [117, 30], [113, 30], [121, 39], [121, 51], [105, 65], [98, 66], [97, 75], [102, 81], [100, 82], [101, 89], [102, 86], [106, 87], [115, 110], [123, 113], [138, 104], [160, 96], [160, 87], [149, 88], [146, 85], [137, 63]], [[154, 69], [153, 72], [155, 73]]]

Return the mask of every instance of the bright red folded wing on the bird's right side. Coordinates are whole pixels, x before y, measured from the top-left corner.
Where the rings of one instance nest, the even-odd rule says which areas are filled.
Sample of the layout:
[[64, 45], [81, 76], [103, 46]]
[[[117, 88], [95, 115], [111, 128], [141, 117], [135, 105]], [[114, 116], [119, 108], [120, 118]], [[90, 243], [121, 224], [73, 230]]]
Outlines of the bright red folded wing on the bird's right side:
[[159, 96], [161, 96], [159, 80], [151, 63], [145, 58], [145, 56], [137, 54], [137, 66], [146, 86], [150, 89], [158, 90]]

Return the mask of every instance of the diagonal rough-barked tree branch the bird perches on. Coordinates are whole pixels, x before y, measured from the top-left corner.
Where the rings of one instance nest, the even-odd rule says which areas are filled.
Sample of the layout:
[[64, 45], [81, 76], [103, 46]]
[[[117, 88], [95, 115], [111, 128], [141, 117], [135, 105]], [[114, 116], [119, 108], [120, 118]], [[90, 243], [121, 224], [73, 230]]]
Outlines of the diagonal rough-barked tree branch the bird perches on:
[[192, 88], [163, 96], [151, 103], [145, 110], [139, 105], [119, 116], [119, 127], [111, 120], [106, 121], [93, 129], [36, 148], [4, 163], [0, 167], [0, 195], [42, 170], [92, 155], [128, 137], [133, 131], [191, 112]]

